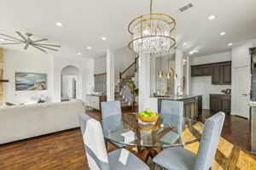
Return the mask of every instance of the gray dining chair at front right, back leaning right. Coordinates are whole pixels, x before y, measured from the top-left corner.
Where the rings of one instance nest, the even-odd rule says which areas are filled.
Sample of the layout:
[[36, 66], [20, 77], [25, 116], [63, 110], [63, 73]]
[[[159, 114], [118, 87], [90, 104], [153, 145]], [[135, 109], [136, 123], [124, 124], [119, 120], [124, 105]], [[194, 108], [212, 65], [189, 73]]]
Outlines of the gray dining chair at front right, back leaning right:
[[154, 157], [154, 163], [165, 169], [208, 170], [212, 167], [225, 114], [218, 112], [207, 119], [197, 155], [183, 147], [167, 148]]

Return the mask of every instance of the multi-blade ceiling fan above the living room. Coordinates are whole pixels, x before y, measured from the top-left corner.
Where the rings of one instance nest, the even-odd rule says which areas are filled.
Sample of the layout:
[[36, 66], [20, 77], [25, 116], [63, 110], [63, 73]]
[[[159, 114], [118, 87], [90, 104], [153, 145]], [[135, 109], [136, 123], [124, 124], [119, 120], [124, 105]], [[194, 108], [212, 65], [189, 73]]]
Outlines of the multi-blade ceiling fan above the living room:
[[32, 40], [32, 33], [26, 33], [26, 36], [23, 36], [19, 31], [15, 31], [20, 37], [19, 38], [15, 38], [15, 37], [10, 37], [7, 35], [4, 35], [2, 33], [0, 33], [0, 36], [5, 37], [3, 38], [3, 41], [8, 41], [8, 42], [3, 42], [0, 43], [1, 45], [12, 45], [12, 44], [25, 44], [24, 49], [26, 50], [30, 45], [34, 48], [37, 48], [40, 51], [43, 51], [44, 53], [47, 54], [47, 49], [49, 50], [53, 50], [53, 51], [59, 51], [58, 49], [55, 48], [61, 48], [60, 45], [54, 45], [54, 44], [46, 44], [46, 43], [42, 43], [44, 41], [47, 41], [47, 38], [43, 38], [43, 39], [38, 39], [38, 40]]

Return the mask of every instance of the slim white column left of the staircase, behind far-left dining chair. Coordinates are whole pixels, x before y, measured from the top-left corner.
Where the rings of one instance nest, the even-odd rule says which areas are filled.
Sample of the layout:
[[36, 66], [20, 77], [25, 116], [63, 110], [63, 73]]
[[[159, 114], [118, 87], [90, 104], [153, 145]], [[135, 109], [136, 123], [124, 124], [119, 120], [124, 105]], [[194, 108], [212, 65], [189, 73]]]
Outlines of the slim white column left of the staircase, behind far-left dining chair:
[[114, 51], [107, 50], [107, 100], [114, 100]]

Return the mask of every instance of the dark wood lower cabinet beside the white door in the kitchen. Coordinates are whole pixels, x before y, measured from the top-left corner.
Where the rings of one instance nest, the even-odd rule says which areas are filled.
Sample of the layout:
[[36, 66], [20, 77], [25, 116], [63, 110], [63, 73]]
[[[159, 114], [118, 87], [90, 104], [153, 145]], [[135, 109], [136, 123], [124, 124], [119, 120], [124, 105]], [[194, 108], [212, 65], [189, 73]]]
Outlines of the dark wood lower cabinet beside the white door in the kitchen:
[[230, 114], [231, 96], [229, 94], [210, 94], [210, 111], [217, 113], [223, 111]]

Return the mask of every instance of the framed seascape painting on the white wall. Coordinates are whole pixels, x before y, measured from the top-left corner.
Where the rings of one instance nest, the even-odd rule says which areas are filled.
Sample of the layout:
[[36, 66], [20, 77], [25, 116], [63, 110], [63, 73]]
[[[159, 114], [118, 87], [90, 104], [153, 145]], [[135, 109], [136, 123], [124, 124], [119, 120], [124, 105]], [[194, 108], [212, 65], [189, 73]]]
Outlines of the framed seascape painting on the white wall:
[[15, 90], [46, 90], [46, 74], [15, 72]]

